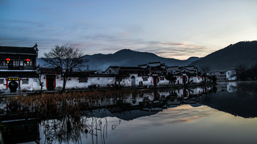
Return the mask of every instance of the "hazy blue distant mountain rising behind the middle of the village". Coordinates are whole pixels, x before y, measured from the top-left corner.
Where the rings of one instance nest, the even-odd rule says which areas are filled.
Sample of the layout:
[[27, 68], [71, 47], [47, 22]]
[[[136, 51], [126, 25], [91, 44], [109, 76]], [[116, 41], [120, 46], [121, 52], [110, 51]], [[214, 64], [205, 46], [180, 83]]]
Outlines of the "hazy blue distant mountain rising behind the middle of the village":
[[89, 59], [89, 69], [106, 70], [109, 66], [138, 66], [149, 62], [166, 63], [167, 66], [187, 66], [197, 57], [188, 58], [188, 60], [178, 60], [174, 58], [163, 58], [153, 53], [132, 51], [130, 49], [123, 49], [113, 54], [94, 54], [86, 55], [85, 58]]

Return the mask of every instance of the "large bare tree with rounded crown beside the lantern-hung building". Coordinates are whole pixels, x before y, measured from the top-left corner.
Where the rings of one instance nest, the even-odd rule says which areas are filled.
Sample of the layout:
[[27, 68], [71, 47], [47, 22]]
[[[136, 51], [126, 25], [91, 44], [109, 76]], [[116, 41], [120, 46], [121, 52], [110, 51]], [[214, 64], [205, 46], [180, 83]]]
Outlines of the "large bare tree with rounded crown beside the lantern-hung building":
[[89, 62], [81, 51], [68, 44], [55, 46], [49, 53], [44, 53], [44, 56], [43, 60], [46, 63], [60, 69], [61, 76], [64, 78], [62, 91], [65, 91], [69, 75], [73, 71], [79, 71], [80, 68], [87, 66], [86, 63]]

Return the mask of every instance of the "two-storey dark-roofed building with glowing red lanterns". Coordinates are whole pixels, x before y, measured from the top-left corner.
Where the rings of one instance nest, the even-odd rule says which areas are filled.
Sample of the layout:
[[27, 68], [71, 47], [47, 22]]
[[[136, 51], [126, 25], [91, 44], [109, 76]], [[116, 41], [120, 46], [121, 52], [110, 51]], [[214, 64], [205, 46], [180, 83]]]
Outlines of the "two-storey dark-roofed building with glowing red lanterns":
[[36, 73], [38, 46], [0, 46], [0, 91], [31, 89]]

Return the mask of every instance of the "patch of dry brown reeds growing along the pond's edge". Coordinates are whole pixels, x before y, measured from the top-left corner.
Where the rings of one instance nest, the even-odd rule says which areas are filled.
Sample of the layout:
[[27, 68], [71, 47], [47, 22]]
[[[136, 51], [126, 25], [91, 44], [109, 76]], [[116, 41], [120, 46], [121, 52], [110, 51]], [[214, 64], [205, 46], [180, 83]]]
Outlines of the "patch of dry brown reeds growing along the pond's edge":
[[[40, 117], [73, 115], [84, 110], [116, 103], [128, 96], [142, 93], [131, 89], [84, 91], [69, 93], [41, 93], [40, 95], [7, 98], [9, 113], [36, 113]], [[111, 104], [110, 104], [111, 105]]]

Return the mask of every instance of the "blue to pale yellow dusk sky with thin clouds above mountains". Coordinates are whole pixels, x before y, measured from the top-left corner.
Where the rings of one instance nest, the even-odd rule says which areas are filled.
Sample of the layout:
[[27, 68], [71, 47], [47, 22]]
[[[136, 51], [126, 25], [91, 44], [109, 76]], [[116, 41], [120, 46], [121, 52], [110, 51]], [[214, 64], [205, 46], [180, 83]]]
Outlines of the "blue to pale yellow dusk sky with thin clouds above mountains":
[[0, 0], [0, 46], [69, 43], [85, 54], [124, 48], [203, 57], [257, 40], [256, 0]]

